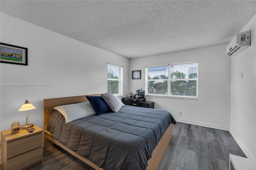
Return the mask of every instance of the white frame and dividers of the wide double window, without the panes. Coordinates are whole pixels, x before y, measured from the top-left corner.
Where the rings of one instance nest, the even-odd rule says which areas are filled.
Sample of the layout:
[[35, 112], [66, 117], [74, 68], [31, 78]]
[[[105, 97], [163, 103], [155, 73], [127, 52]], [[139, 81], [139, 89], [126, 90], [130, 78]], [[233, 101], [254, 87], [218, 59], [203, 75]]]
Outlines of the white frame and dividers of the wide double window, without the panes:
[[[188, 64], [197, 64], [197, 70], [196, 70], [196, 78], [185, 78], [185, 79], [174, 79], [171, 78], [171, 66], [174, 65], [188, 65]], [[167, 94], [152, 94], [148, 92], [148, 68], [152, 67], [165, 67], [168, 68], [168, 79], [157, 79], [158, 81], [167, 81]], [[156, 80], [156, 79], [155, 79]], [[188, 81], [188, 80], [196, 80], [196, 96], [185, 96], [185, 95], [172, 95], [171, 94], [171, 81]], [[145, 96], [149, 97], [163, 97], [163, 98], [175, 98], [175, 99], [192, 99], [192, 100], [198, 100], [198, 61], [192, 61], [192, 62], [186, 62], [186, 63], [174, 63], [174, 64], [165, 64], [165, 65], [152, 65], [152, 66], [146, 66], [145, 68]]]

